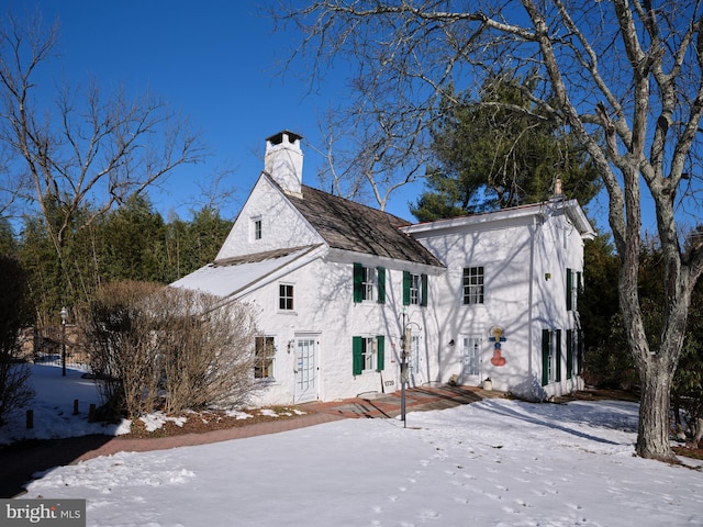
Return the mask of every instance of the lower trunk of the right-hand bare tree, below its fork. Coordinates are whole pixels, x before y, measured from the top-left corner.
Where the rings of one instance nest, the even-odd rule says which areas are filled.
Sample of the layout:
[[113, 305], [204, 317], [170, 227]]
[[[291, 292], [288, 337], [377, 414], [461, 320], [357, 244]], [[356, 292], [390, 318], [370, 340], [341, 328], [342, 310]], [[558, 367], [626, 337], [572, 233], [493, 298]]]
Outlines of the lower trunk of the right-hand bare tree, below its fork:
[[666, 361], [651, 357], [640, 371], [639, 429], [637, 455], [643, 458], [674, 461], [669, 441], [670, 394], [673, 372]]

